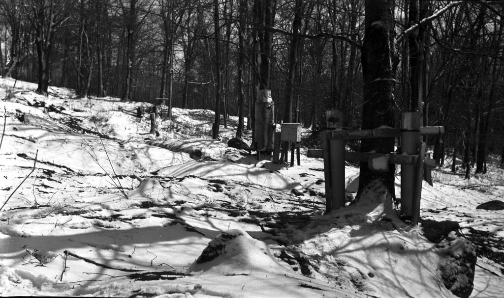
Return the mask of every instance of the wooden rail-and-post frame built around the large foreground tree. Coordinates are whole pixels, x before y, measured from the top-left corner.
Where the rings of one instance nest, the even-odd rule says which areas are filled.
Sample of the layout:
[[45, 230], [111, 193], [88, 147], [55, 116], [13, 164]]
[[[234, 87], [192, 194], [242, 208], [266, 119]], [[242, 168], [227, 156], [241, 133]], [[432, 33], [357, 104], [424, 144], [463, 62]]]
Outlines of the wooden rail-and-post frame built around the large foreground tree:
[[[327, 212], [345, 207], [345, 161], [367, 161], [371, 165], [373, 159], [385, 158], [389, 164], [403, 165], [401, 216], [411, 216], [413, 225], [417, 225], [420, 217], [423, 168], [435, 166], [433, 159], [425, 158], [425, 143], [421, 142], [421, 136], [434, 136], [444, 132], [445, 128], [442, 126], [420, 127], [418, 112], [403, 113], [401, 128], [323, 131], [320, 138], [324, 158]], [[345, 151], [345, 140], [390, 137], [401, 137], [402, 154]], [[310, 155], [319, 154], [312, 151]]]

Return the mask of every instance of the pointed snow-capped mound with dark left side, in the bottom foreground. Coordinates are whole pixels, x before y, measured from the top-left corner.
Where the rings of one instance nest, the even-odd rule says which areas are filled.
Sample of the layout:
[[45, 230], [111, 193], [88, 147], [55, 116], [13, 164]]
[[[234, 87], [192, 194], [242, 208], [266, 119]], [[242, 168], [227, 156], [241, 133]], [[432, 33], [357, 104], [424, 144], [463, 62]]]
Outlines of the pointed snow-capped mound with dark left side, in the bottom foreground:
[[233, 229], [220, 233], [188, 269], [227, 275], [250, 274], [253, 270], [285, 269], [273, 258], [266, 243]]

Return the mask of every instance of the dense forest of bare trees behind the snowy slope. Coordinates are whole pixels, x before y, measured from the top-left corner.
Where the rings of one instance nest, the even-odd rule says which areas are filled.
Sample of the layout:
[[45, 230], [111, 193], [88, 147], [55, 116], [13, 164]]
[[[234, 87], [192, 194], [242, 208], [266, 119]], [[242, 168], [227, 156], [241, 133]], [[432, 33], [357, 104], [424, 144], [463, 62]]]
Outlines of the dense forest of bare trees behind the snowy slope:
[[[366, 24], [373, 9], [391, 22]], [[393, 96], [378, 112], [392, 112], [398, 127], [401, 112], [420, 111], [425, 126], [446, 129], [425, 140], [433, 157], [460, 155], [478, 173], [488, 153], [504, 157], [503, 14], [499, 1], [3, 0], [0, 75], [38, 82], [40, 93], [53, 85], [211, 109], [224, 126], [237, 115], [237, 137], [253, 128], [262, 88], [271, 89], [276, 123], [316, 133], [336, 108], [345, 127], [360, 128], [372, 101], [365, 34], [386, 26], [385, 39], [368, 38], [390, 50]]]

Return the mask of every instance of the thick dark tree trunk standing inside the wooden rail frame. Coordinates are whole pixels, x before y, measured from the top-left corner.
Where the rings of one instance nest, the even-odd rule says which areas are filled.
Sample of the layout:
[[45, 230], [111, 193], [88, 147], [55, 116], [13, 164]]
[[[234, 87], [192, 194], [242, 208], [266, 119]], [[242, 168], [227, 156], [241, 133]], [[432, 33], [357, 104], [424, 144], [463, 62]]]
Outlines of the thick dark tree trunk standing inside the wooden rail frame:
[[[364, 79], [363, 129], [394, 126], [393, 91], [396, 69], [392, 63], [395, 59], [393, 11], [393, 0], [365, 2], [365, 34], [361, 57]], [[394, 138], [363, 139], [360, 150], [389, 153], [394, 151], [394, 143]], [[367, 162], [362, 162], [357, 197], [360, 198], [363, 189], [376, 179], [395, 197], [394, 170], [395, 167], [391, 165], [387, 172], [371, 171]]]

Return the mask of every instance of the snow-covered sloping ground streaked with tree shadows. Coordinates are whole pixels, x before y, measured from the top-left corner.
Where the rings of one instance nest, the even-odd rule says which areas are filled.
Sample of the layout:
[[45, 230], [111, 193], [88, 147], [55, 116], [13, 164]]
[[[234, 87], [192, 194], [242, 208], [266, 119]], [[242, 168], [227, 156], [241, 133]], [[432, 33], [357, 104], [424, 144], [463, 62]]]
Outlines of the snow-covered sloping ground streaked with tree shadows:
[[[13, 85], [0, 79], [2, 296], [454, 296], [440, 249], [379, 186], [324, 215], [323, 161], [288, 167], [229, 148], [235, 118], [220, 142], [211, 111], [173, 109], [155, 138], [149, 104]], [[503, 170], [433, 177], [422, 218], [460, 223], [480, 251], [471, 296], [503, 297], [504, 215], [476, 209], [502, 200]], [[350, 196], [357, 179], [346, 166]]]

